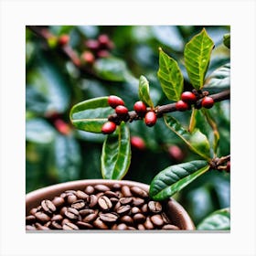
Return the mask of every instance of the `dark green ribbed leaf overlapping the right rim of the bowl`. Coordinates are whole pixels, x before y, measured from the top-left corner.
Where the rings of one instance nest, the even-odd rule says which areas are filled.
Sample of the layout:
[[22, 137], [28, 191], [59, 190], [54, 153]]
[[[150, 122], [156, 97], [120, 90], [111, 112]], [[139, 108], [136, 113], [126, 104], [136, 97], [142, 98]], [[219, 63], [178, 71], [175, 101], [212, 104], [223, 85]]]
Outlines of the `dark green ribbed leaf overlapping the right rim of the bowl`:
[[172, 197], [208, 169], [208, 162], [203, 160], [171, 165], [155, 176], [150, 184], [149, 195], [154, 200]]

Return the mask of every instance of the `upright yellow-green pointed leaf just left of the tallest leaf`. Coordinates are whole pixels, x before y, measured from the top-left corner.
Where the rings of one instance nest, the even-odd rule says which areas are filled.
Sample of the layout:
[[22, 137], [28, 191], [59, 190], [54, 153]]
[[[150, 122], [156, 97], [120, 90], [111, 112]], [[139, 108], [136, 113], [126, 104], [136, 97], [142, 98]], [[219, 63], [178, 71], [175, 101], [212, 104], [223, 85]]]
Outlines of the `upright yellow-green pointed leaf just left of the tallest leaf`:
[[176, 60], [170, 58], [162, 48], [159, 48], [157, 76], [166, 97], [171, 101], [178, 101], [183, 91], [183, 75]]

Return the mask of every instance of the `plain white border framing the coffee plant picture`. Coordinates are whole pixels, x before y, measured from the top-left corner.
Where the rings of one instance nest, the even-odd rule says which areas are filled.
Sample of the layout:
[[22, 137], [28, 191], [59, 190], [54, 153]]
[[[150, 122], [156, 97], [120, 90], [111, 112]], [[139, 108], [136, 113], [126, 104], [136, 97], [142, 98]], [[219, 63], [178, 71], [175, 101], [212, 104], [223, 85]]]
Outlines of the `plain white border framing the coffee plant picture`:
[[[2, 256], [256, 255], [254, 1], [9, 0], [0, 7]], [[25, 233], [25, 26], [45, 24], [231, 25], [230, 233]]]

